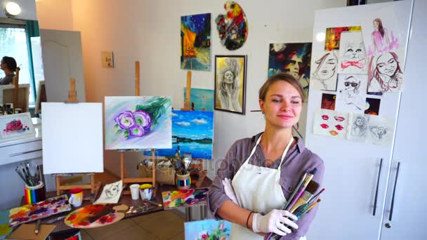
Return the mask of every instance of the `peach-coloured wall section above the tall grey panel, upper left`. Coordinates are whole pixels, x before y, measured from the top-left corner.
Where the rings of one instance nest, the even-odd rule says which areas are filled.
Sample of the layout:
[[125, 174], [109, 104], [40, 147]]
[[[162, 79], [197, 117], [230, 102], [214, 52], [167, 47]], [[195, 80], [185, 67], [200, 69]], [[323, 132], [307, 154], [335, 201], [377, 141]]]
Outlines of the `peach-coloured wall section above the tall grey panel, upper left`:
[[[34, 0], [25, 0], [33, 1]], [[39, 27], [72, 31], [72, 0], [37, 0]]]

